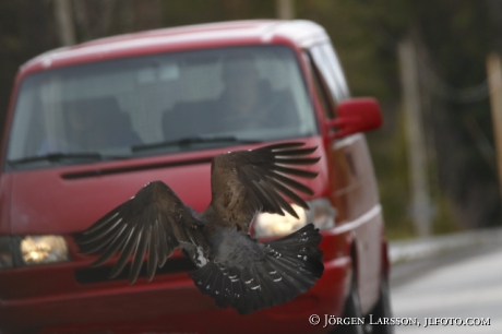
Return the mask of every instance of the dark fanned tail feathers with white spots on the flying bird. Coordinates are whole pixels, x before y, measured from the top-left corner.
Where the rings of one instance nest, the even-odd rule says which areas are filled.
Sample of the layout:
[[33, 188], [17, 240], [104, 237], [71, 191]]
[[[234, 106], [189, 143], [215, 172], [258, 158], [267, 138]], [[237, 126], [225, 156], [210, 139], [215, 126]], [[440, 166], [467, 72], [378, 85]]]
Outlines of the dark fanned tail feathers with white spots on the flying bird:
[[282, 239], [261, 243], [265, 253], [249, 266], [226, 267], [214, 261], [190, 274], [196, 287], [218, 307], [241, 314], [274, 307], [310, 289], [324, 265], [318, 249], [322, 236], [312, 224]]

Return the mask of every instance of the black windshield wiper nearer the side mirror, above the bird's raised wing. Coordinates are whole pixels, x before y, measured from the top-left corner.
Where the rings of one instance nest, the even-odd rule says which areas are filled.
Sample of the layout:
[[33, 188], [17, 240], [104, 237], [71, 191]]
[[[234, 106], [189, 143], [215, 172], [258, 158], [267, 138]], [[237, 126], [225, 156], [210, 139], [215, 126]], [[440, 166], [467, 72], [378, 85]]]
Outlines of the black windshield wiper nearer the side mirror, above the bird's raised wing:
[[206, 143], [234, 143], [234, 144], [255, 144], [261, 143], [258, 140], [246, 140], [239, 139], [235, 135], [220, 135], [220, 136], [187, 136], [176, 141], [167, 141], [160, 143], [153, 143], [146, 145], [138, 145], [132, 146], [132, 152], [141, 152], [141, 151], [148, 151], [155, 148], [164, 148], [164, 147], [183, 147], [183, 146], [191, 146], [192, 144], [206, 144]]

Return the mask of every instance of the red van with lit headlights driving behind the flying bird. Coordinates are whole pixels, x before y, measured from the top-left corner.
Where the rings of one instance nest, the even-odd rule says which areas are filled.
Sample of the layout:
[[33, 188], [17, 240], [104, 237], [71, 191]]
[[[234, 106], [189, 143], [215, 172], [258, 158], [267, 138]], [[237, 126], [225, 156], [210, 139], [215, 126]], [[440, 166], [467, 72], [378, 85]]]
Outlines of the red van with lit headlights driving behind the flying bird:
[[[351, 98], [325, 31], [240, 21], [97, 39], [21, 67], [1, 144], [1, 333], [362, 333], [391, 317], [382, 210], [361, 132], [378, 103]], [[175, 253], [146, 282], [91, 267], [77, 232], [163, 180], [188, 205], [211, 200], [216, 155], [301, 141], [319, 146], [300, 219], [259, 214], [256, 238], [321, 229], [324, 274], [295, 300], [219, 309]], [[340, 320], [351, 317], [356, 325]], [[363, 319], [363, 317], [367, 317]], [[373, 333], [392, 329], [373, 325]]]

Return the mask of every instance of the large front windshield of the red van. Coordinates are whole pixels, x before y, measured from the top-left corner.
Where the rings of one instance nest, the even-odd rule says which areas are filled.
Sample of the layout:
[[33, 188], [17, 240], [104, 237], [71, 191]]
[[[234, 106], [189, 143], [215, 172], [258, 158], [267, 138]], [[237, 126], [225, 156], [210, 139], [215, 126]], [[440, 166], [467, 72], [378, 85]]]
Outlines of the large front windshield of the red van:
[[311, 100], [291, 49], [206, 49], [27, 76], [8, 162], [16, 168], [83, 164], [89, 159], [61, 157], [133, 158], [315, 133]]

